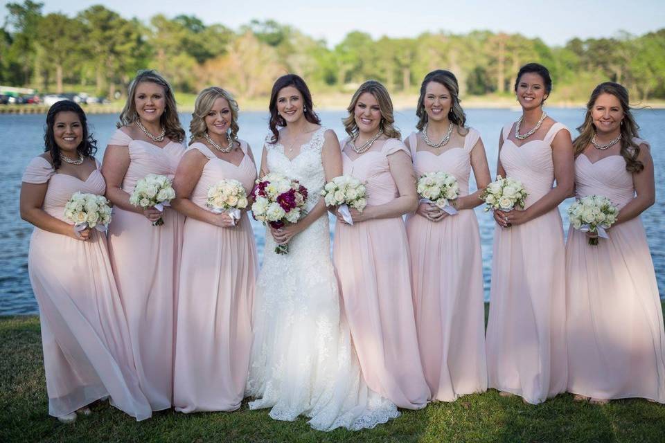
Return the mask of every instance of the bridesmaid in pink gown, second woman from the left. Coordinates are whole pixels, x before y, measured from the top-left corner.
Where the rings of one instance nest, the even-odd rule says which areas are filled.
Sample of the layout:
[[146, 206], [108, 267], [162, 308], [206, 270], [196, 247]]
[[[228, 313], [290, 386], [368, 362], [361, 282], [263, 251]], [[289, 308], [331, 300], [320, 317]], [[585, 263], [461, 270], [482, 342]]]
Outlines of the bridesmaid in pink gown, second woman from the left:
[[[136, 181], [148, 174], [173, 177], [185, 132], [169, 84], [142, 71], [130, 84], [118, 130], [104, 154], [107, 198], [115, 205], [109, 253], [130, 326], [141, 389], [152, 410], [171, 407], [179, 251], [184, 217], [170, 208], [130, 204]], [[163, 217], [163, 226], [152, 226]]]

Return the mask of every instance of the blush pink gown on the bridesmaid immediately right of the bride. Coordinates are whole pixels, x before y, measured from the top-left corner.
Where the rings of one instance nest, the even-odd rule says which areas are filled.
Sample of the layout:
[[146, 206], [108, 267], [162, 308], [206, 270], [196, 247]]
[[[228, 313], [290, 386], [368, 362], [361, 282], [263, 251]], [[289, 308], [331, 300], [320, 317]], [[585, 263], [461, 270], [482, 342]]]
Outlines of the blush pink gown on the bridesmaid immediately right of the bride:
[[[344, 174], [366, 183], [368, 205], [398, 197], [387, 157], [400, 150], [409, 154], [404, 143], [389, 138], [376, 142], [355, 161], [342, 154]], [[429, 388], [418, 353], [409, 244], [402, 217], [353, 226], [338, 221], [333, 261], [367, 385], [400, 408], [425, 407]]]

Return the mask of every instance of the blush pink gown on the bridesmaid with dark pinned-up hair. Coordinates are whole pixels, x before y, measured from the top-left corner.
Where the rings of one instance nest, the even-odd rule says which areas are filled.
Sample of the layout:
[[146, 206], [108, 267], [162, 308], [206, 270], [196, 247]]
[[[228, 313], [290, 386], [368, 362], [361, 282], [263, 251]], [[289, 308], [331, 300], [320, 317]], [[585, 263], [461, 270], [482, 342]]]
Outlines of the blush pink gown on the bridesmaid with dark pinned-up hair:
[[[549, 192], [554, 181], [551, 142], [555, 123], [543, 140], [517, 146], [504, 127], [501, 163], [508, 177], [529, 192], [526, 207]], [[565, 392], [565, 251], [558, 208], [524, 224], [495, 226], [490, 316], [486, 349], [489, 387], [520, 395], [531, 404]]]

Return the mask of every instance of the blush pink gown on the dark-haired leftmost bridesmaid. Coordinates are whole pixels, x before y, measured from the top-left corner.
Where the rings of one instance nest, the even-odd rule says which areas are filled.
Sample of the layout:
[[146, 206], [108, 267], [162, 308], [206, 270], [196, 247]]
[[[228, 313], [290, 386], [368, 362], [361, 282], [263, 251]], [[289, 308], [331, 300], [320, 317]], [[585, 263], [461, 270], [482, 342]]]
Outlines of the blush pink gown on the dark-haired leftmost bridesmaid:
[[[30, 161], [23, 181], [48, 183], [42, 208], [63, 221], [74, 192], [103, 195], [106, 188], [99, 170], [81, 181], [56, 174], [41, 156]], [[93, 230], [82, 242], [35, 227], [28, 273], [39, 303], [48, 413], [62, 417], [109, 395], [112, 405], [136, 419], [150, 417], [105, 235]]]

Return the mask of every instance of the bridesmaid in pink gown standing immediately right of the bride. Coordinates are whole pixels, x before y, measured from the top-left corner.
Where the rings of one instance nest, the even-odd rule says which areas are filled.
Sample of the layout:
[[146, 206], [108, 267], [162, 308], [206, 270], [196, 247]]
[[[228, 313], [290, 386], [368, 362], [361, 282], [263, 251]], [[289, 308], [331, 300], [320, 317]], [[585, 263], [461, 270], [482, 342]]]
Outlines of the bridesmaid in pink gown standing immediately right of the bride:
[[369, 80], [344, 120], [344, 174], [366, 183], [368, 205], [337, 215], [333, 260], [346, 317], [368, 386], [400, 408], [427, 405], [411, 300], [409, 245], [402, 215], [418, 205], [409, 149], [393, 127], [386, 88]]

